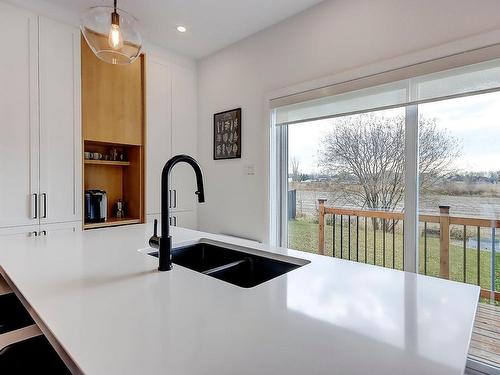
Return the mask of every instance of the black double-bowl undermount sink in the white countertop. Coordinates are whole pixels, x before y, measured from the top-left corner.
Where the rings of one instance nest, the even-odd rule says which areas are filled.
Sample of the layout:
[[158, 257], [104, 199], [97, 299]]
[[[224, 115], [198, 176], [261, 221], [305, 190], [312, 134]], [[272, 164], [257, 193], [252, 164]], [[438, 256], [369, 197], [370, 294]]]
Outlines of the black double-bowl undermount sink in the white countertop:
[[[148, 255], [158, 257], [158, 252]], [[204, 242], [172, 249], [173, 263], [242, 288], [257, 286], [309, 263], [303, 259], [279, 257], [275, 259]]]

